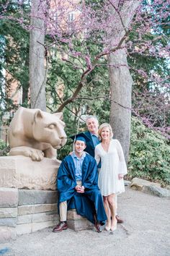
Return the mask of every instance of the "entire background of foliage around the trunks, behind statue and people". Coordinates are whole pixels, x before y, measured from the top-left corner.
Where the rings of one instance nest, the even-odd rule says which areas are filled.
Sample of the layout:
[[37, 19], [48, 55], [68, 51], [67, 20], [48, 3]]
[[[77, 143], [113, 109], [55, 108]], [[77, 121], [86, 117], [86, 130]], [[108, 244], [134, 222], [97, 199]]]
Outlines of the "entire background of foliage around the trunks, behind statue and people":
[[[48, 1], [44, 2], [48, 3]], [[116, 9], [113, 5], [116, 1], [110, 2], [112, 11], [116, 10], [115, 17], [117, 16], [120, 22], [124, 4], [131, 1], [119, 1]], [[94, 17], [96, 30], [93, 27], [94, 33], [90, 32], [86, 40], [76, 33], [73, 21], [68, 22], [70, 27], [62, 36], [59, 33], [52, 35], [45, 30], [45, 43], [42, 48], [45, 61], [48, 63], [45, 85], [48, 111], [57, 111], [71, 98], [81, 82], [84, 71], [90, 70], [83, 81], [84, 86], [79, 95], [76, 95], [76, 98], [63, 108], [63, 121], [66, 122], [68, 137], [86, 129], [84, 119], [88, 114], [96, 115], [100, 124], [110, 120], [113, 99], [110, 93], [107, 54], [97, 59], [95, 68], [91, 69], [95, 58], [106, 51], [104, 47], [109, 41], [107, 38], [109, 33], [104, 33], [103, 29], [103, 20], [109, 16], [107, 6], [104, 5], [106, 3], [107, 1], [86, 1], [86, 6], [91, 8], [88, 14], [91, 21], [95, 12], [99, 14], [101, 7], [106, 8], [103, 12], [105, 17], [98, 16], [99, 20]], [[134, 14], [126, 35], [125, 47], [121, 46], [125, 48], [127, 56], [126, 68], [133, 77], [131, 108], [133, 119], [128, 178], [140, 176], [161, 181], [161, 184], [166, 185], [169, 184], [170, 130], [169, 56], [166, 54], [170, 32], [168, 1], [151, 1], [151, 4], [148, 4], [148, 1], [140, 1], [140, 4], [141, 12]], [[30, 107], [28, 94], [30, 30], [32, 29], [29, 27], [30, 8], [30, 1], [5, 0], [0, 7], [1, 124], [7, 112], [17, 110], [19, 106]], [[48, 9], [45, 9], [45, 17], [48, 17]], [[65, 12], [68, 13], [68, 10]], [[12, 15], [14, 19], [5, 18]], [[56, 15], [56, 25], [61, 18], [60, 15]], [[122, 18], [125, 20], [123, 15]], [[101, 30], [99, 30], [100, 23]], [[92, 25], [89, 24], [89, 27]], [[86, 27], [87, 32], [90, 31], [89, 27]], [[121, 64], [120, 67], [112, 65], [112, 68], [120, 71], [122, 66]], [[10, 74], [10, 77], [6, 77], [6, 73]], [[14, 81], [17, 81], [18, 90], [22, 88], [22, 104], [19, 105], [14, 104], [8, 95], [8, 90]], [[119, 118], [121, 119], [121, 116]], [[124, 124], [124, 127], [126, 125]], [[153, 132], [152, 129], [161, 132], [162, 135]], [[68, 140], [67, 145], [58, 152], [58, 158], [62, 159], [70, 150], [72, 150], [71, 140]]]

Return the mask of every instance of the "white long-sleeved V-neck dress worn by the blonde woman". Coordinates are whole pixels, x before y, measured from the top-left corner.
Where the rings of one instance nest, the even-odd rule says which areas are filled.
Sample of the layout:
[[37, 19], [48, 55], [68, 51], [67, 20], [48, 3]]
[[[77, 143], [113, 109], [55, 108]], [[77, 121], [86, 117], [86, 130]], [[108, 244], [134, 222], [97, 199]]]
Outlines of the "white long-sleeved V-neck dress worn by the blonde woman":
[[108, 152], [99, 143], [95, 148], [95, 159], [97, 164], [101, 159], [98, 184], [102, 195], [107, 196], [125, 192], [123, 179], [118, 178], [118, 174], [127, 174], [127, 166], [120, 142], [110, 140]]

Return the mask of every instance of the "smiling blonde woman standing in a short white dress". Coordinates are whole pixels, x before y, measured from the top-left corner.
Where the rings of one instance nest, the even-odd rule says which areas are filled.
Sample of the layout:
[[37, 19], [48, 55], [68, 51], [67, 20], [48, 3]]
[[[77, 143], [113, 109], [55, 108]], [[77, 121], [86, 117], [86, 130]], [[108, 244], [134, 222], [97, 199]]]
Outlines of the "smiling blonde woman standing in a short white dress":
[[95, 148], [95, 159], [97, 164], [101, 160], [98, 183], [107, 214], [105, 229], [115, 231], [117, 229], [115, 195], [125, 192], [123, 176], [127, 174], [127, 166], [120, 142], [112, 139], [112, 127], [104, 123], [99, 127], [98, 133], [101, 143]]

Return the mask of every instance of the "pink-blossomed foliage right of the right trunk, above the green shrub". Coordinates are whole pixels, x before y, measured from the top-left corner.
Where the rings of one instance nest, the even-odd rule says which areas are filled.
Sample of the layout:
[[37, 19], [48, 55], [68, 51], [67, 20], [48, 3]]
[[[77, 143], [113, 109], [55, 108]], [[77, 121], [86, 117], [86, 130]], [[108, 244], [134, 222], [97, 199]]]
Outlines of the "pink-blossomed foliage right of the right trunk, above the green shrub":
[[[154, 0], [149, 2], [151, 6], [148, 1], [142, 1], [143, 22], [134, 23], [128, 38], [128, 64], [133, 77], [132, 104], [135, 112], [138, 111], [140, 117], [147, 117], [153, 127], [169, 127], [170, 66], [169, 54], [166, 52], [170, 34], [167, 25], [170, 20], [167, 15], [169, 4], [167, 1], [162, 1], [162, 4]], [[151, 28], [139, 33], [149, 19], [155, 21]]]

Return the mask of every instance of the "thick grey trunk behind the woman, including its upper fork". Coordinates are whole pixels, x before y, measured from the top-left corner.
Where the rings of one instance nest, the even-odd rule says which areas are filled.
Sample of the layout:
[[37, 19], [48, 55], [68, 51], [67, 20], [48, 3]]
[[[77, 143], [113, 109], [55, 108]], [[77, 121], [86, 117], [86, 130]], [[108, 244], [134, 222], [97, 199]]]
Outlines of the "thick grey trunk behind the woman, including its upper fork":
[[[111, 12], [113, 17], [117, 16], [117, 22], [112, 25], [112, 32], [109, 34], [110, 44], [114, 45], [119, 42], [128, 33], [128, 28], [139, 4], [139, 0], [125, 1], [119, 12], [117, 12], [118, 5], [116, 8], [112, 7]], [[122, 145], [125, 160], [128, 162], [133, 80], [128, 69], [125, 48], [109, 54], [108, 64], [111, 92], [110, 124], [115, 138]]]

